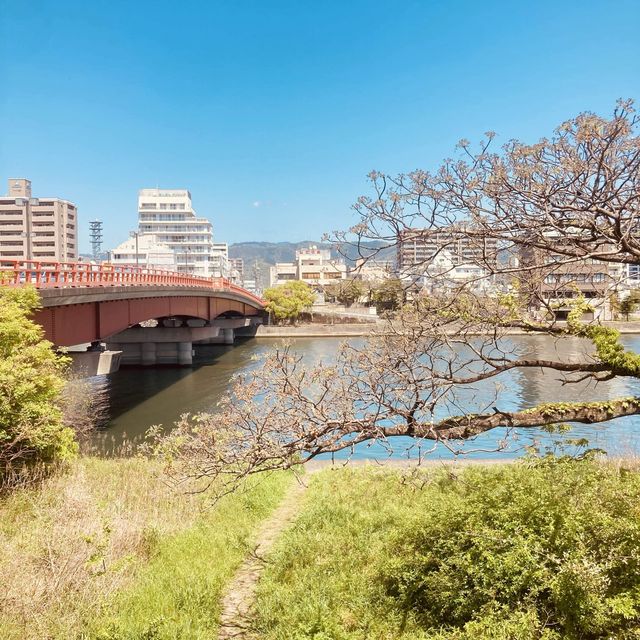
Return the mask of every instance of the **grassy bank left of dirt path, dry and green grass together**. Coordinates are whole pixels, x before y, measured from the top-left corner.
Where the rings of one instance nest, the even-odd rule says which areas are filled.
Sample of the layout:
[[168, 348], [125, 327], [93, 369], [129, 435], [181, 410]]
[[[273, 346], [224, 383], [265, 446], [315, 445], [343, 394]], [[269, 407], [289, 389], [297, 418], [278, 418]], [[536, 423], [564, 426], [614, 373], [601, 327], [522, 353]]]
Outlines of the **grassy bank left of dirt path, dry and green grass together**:
[[156, 464], [82, 458], [0, 501], [0, 637], [210, 638], [287, 476], [210, 508]]

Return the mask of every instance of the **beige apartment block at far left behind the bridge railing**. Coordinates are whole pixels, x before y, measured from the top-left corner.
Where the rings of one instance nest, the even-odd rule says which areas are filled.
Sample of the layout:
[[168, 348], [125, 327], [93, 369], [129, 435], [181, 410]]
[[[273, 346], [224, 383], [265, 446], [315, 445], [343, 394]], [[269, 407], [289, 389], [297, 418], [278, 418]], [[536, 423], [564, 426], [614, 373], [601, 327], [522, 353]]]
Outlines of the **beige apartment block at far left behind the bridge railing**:
[[31, 181], [9, 178], [0, 196], [0, 259], [73, 262], [78, 259], [78, 209], [61, 198], [34, 198]]

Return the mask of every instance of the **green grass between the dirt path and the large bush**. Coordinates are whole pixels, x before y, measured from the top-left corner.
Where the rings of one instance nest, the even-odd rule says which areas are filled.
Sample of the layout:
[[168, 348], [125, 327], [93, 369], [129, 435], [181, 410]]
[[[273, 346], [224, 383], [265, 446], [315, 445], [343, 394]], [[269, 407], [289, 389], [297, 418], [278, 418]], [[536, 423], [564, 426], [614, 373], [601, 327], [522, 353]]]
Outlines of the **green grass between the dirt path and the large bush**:
[[388, 471], [325, 471], [279, 541], [258, 589], [261, 638], [314, 640], [427, 637], [407, 621], [379, 580], [390, 536], [416, 493]]

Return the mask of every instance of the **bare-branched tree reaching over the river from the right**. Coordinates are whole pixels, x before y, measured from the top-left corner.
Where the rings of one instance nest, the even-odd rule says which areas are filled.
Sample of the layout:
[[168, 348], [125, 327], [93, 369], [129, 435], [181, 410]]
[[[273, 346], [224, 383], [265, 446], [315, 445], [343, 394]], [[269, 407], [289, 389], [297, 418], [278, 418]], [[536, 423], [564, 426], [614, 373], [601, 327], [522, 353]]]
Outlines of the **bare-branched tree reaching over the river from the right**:
[[[374, 195], [358, 200], [358, 223], [335, 240], [364, 259], [395, 249], [412, 302], [334, 362], [309, 369], [288, 348], [268, 355], [218, 412], [185, 417], [160, 441], [177, 476], [226, 490], [257, 471], [398, 436], [456, 449], [496, 427], [640, 413], [640, 397], [510, 410], [499, 383], [531, 368], [563, 385], [640, 376], [640, 356], [602, 324], [627, 266], [640, 263], [633, 104], [609, 119], [581, 114], [533, 145], [493, 151], [494, 138], [476, 151], [461, 141], [435, 173], [370, 175]], [[514, 330], [591, 348], [578, 361], [532, 358], [507, 340]], [[471, 410], [474, 386], [494, 381], [491, 400]]]

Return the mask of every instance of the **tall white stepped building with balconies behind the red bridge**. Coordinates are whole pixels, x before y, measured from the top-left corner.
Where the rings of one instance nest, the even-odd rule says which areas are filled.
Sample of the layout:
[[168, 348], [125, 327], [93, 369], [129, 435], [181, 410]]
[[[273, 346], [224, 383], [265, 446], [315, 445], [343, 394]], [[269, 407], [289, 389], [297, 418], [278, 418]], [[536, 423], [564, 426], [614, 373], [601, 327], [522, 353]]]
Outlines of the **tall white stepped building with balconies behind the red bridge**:
[[216, 275], [213, 228], [199, 218], [186, 189], [141, 189], [138, 192], [138, 229], [155, 236], [176, 254], [178, 271]]

